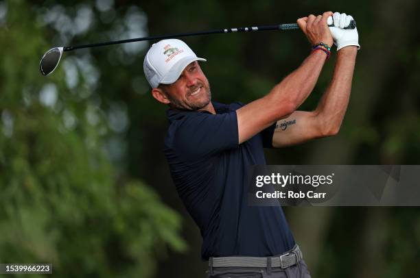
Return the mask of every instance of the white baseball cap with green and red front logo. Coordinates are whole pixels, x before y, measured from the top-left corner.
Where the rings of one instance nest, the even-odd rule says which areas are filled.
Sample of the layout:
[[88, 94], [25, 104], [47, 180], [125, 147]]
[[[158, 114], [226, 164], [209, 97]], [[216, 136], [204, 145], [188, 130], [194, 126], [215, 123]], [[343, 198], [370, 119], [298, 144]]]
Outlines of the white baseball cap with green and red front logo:
[[172, 84], [194, 61], [206, 61], [198, 58], [182, 40], [174, 38], [161, 40], [150, 47], [143, 62], [143, 71], [152, 88], [159, 84]]

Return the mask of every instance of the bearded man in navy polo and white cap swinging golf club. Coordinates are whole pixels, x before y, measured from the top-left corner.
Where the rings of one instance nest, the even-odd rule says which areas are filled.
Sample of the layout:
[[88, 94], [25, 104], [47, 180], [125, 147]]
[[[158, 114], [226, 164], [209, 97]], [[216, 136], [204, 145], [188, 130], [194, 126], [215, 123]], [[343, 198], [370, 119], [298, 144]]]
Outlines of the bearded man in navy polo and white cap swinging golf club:
[[[335, 27], [329, 28], [331, 15]], [[161, 40], [146, 54], [152, 95], [170, 106], [165, 155], [178, 194], [200, 227], [210, 277], [310, 277], [281, 207], [248, 206], [244, 176], [248, 166], [266, 164], [263, 147], [337, 134], [360, 48], [357, 29], [343, 29], [351, 19], [332, 12], [299, 18], [315, 50], [266, 96], [247, 105], [211, 101], [198, 64], [205, 59], [184, 42]], [[338, 53], [331, 83], [316, 110], [296, 111], [312, 92], [333, 42]], [[294, 124], [283, 130], [277, 121]]]

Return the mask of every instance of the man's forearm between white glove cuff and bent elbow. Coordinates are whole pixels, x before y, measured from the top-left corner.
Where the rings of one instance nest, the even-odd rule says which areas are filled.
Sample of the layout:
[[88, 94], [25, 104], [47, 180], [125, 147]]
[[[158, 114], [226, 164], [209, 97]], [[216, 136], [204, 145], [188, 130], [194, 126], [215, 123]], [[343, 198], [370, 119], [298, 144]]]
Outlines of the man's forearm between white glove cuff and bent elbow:
[[336, 134], [340, 129], [349, 103], [356, 55], [356, 47], [345, 47], [337, 53], [331, 83], [315, 110], [325, 134]]

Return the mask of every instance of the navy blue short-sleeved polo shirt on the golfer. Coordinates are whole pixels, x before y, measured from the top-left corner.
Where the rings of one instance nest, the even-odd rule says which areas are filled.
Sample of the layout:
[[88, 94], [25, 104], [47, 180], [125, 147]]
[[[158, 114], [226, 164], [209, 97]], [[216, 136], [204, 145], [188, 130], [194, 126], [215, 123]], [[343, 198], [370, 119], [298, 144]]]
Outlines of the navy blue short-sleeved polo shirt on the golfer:
[[202, 236], [201, 255], [266, 257], [294, 247], [280, 206], [248, 206], [248, 166], [266, 164], [275, 125], [238, 144], [241, 103], [212, 102], [216, 114], [168, 110], [165, 155], [176, 190]]

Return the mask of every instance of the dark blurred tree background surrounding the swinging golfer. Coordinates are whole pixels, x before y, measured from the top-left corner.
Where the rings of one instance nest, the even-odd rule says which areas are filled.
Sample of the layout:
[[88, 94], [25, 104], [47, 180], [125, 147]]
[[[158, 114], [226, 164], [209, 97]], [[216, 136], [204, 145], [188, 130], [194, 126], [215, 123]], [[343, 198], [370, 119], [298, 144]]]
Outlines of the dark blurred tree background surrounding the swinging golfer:
[[[0, 262], [52, 263], [60, 277], [205, 277], [200, 232], [163, 155], [164, 105], [150, 95], [150, 42], [65, 53], [54, 46], [347, 12], [358, 25], [340, 133], [267, 150], [268, 164], [419, 164], [420, 2], [0, 1]], [[299, 30], [184, 39], [213, 99], [253, 101], [310, 53]], [[336, 52], [300, 110], [329, 84]], [[417, 207], [285, 207], [312, 277], [419, 277]]]

